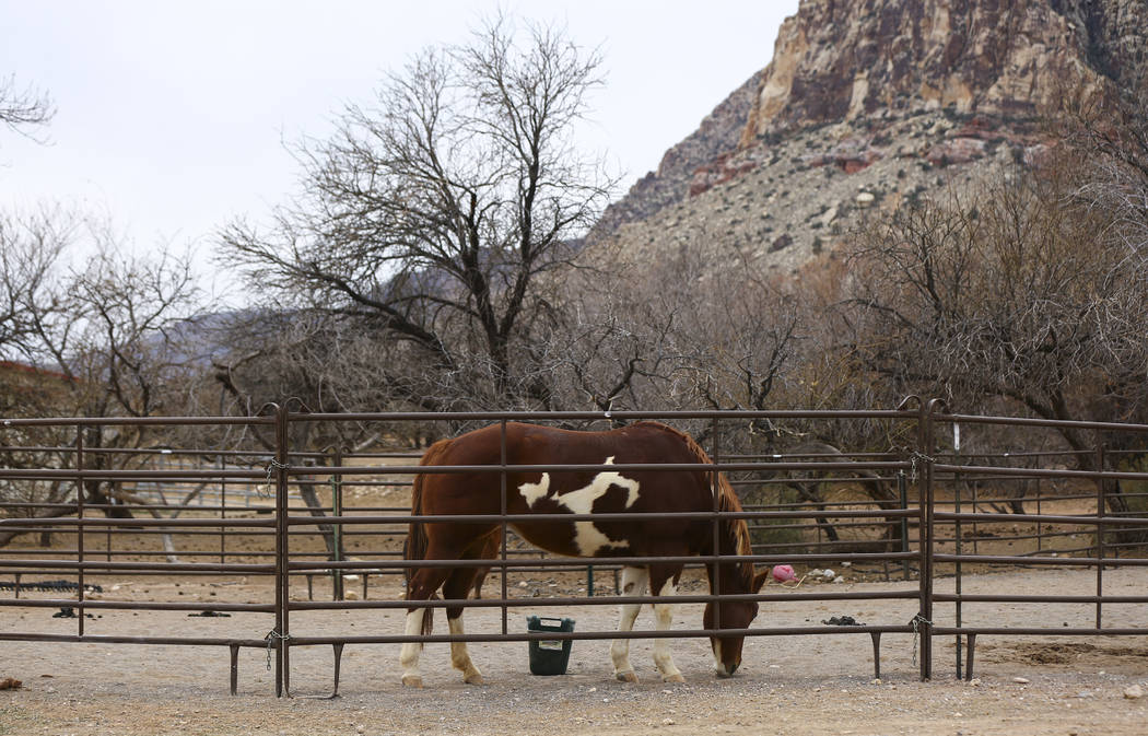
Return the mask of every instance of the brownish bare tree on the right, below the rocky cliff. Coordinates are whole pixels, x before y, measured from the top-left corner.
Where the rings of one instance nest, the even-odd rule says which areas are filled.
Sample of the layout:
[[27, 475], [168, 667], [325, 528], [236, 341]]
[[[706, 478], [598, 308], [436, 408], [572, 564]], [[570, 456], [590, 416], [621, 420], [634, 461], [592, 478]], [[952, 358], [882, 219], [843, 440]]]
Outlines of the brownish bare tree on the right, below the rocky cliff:
[[1142, 270], [1110, 214], [1073, 199], [1069, 164], [903, 207], [863, 234], [847, 349], [867, 371], [965, 410], [1004, 400], [1048, 419], [1115, 419], [1142, 404]]

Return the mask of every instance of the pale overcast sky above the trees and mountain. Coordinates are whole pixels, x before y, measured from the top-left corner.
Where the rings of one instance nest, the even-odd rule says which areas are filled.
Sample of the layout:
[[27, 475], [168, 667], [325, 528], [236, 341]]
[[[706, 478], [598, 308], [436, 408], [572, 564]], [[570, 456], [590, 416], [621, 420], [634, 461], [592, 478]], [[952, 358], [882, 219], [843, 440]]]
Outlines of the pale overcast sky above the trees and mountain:
[[79, 203], [137, 249], [261, 219], [294, 188], [285, 141], [323, 138], [347, 102], [418, 49], [498, 8], [599, 47], [606, 86], [585, 146], [621, 192], [773, 57], [797, 0], [0, 0], [0, 78], [57, 108], [46, 145], [0, 129], [0, 208]]

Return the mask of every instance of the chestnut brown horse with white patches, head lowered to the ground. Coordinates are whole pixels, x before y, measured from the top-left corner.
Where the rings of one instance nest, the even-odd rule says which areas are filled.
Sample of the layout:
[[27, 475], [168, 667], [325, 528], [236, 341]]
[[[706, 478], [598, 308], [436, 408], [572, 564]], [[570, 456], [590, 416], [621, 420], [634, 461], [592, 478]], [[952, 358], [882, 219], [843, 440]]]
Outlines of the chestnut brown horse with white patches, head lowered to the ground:
[[[499, 465], [503, 460], [503, 425], [474, 429], [455, 439], [441, 440], [424, 455], [420, 466]], [[639, 421], [605, 432], [576, 432], [530, 424], [505, 424], [507, 465], [597, 465], [614, 464], [712, 464], [705, 450], [684, 432], [656, 421]], [[745, 520], [720, 516], [713, 519], [666, 518], [681, 512], [742, 511], [737, 495], [718, 475], [696, 470], [597, 470], [553, 472], [509, 472], [506, 513], [514, 516], [557, 513], [635, 514], [623, 520], [525, 520], [511, 527], [535, 547], [567, 557], [688, 557], [698, 555], [751, 555]], [[714, 498], [716, 493], [718, 498]], [[716, 503], [715, 503], [716, 501]], [[433, 473], [414, 478], [411, 516], [489, 514], [502, 512], [502, 481], [496, 472]], [[716, 526], [716, 529], [715, 529]], [[718, 533], [716, 544], [714, 533]], [[490, 522], [411, 521], [404, 558], [408, 560], [494, 559], [502, 537], [502, 525]], [[622, 594], [645, 595], [653, 603], [656, 628], [668, 630], [673, 621], [669, 601], [681, 580], [681, 561], [625, 565]], [[466, 598], [480, 566], [409, 567], [406, 599], [428, 601], [442, 588], [447, 601]], [[706, 564], [709, 591], [716, 595], [757, 594], [768, 568], [755, 573], [750, 561], [709, 561]], [[638, 604], [623, 604], [620, 632], [630, 632], [638, 615]], [[722, 599], [708, 602], [703, 619], [706, 629], [746, 629], [758, 614], [755, 601]], [[447, 622], [452, 635], [463, 630], [463, 607], [447, 605]], [[408, 609], [405, 634], [432, 632], [429, 607]], [[714, 673], [731, 676], [742, 664], [744, 634], [711, 636]], [[474, 666], [465, 642], [451, 642], [451, 665], [463, 673], [463, 681], [481, 684], [482, 674]], [[400, 654], [402, 682], [421, 687], [420, 642], [406, 642]], [[614, 675], [623, 682], [637, 682], [629, 660], [629, 640], [615, 640], [611, 646]], [[653, 659], [661, 679], [682, 682], [666, 638], [656, 638]]]

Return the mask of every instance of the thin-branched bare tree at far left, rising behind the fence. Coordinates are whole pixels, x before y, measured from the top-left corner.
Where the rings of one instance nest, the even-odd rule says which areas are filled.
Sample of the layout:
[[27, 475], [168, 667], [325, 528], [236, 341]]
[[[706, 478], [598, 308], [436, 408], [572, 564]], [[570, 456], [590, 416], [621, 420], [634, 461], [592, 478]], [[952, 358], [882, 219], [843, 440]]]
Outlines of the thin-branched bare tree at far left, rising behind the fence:
[[[67, 225], [65, 225], [67, 224]], [[18, 284], [21, 274], [36, 273], [20, 292], [23, 327], [7, 348], [17, 351], [14, 375], [5, 385], [6, 417], [149, 417], [179, 415], [186, 406], [186, 387], [196, 361], [194, 341], [184, 328], [201, 308], [186, 258], [125, 255], [106, 227], [87, 227], [75, 219], [31, 219], [9, 227], [5, 272], [0, 284]], [[82, 271], [67, 270], [62, 255], [91, 248]], [[42, 249], [41, 249], [42, 248]], [[45, 251], [55, 254], [45, 262]], [[7, 384], [7, 382], [6, 382]], [[147, 448], [164, 442], [157, 428], [101, 427], [84, 429], [93, 468], [135, 467], [145, 460], [107, 450]], [[75, 429], [8, 428], [9, 447], [70, 447]], [[5, 462], [21, 467], [67, 465], [69, 454], [47, 455], [15, 450]], [[55, 452], [56, 455], [52, 455]], [[65, 485], [9, 487], [6, 497], [25, 497], [40, 488], [45, 503], [59, 503], [75, 491]], [[117, 483], [91, 480], [83, 488], [91, 503], [104, 504], [109, 516], [127, 517], [119, 502], [132, 501]], [[44, 495], [46, 494], [46, 495]], [[45, 506], [41, 516], [67, 513], [65, 506]], [[0, 540], [6, 542], [7, 540]]]

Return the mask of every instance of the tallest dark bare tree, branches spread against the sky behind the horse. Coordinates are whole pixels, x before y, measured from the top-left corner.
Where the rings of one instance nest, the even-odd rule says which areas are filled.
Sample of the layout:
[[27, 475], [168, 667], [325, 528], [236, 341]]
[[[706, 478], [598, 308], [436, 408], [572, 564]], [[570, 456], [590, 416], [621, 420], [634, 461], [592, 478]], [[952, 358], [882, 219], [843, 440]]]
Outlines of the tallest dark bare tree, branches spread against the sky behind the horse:
[[[597, 54], [497, 20], [470, 44], [432, 48], [390, 75], [371, 107], [349, 106], [338, 133], [300, 150], [303, 194], [261, 230], [236, 222], [225, 258], [276, 289], [277, 305], [321, 309], [418, 357], [425, 408], [507, 397], [512, 344], [538, 303], [540, 276], [576, 254], [574, 239], [612, 181], [572, 131], [598, 84]], [[396, 389], [410, 375], [391, 381]]]

